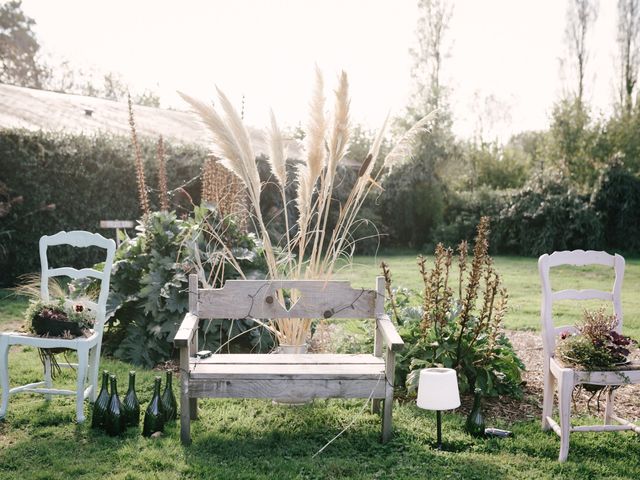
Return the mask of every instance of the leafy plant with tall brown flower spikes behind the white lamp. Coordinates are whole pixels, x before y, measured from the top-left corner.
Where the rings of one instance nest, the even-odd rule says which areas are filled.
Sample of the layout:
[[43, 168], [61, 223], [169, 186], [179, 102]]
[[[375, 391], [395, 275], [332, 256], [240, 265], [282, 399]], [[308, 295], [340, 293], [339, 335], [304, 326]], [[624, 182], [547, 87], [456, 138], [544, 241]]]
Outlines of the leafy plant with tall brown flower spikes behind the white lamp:
[[[392, 310], [397, 312], [398, 329], [405, 342], [396, 378], [408, 390], [417, 385], [420, 369], [441, 366], [458, 372], [463, 392], [479, 387], [485, 395], [521, 394], [524, 365], [501, 330], [507, 292], [487, 253], [488, 236], [489, 220], [483, 217], [470, 266], [467, 243], [458, 246], [457, 289], [453, 251], [438, 244], [431, 269], [424, 257], [418, 257], [424, 280], [421, 295], [406, 290], [400, 295], [396, 290], [392, 295]], [[389, 275], [385, 277], [389, 285]]]

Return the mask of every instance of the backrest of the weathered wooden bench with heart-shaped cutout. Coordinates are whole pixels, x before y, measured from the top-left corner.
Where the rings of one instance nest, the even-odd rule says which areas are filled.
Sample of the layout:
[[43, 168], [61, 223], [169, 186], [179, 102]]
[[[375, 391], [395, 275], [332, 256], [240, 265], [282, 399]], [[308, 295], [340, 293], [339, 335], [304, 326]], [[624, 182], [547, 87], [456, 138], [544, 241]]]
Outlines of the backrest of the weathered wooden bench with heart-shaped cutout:
[[[287, 308], [283, 292], [292, 291], [298, 298]], [[190, 275], [189, 311], [200, 318], [376, 318], [384, 313], [384, 278], [376, 290], [341, 280], [227, 280], [203, 289]]]

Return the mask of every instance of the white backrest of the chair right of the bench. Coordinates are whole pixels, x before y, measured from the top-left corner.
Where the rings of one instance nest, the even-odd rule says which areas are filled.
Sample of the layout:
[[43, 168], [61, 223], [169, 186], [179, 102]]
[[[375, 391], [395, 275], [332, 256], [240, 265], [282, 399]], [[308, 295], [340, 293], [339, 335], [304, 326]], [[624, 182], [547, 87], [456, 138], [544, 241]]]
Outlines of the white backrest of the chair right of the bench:
[[[575, 331], [573, 326], [554, 326], [553, 304], [559, 300], [605, 300], [613, 304], [613, 311], [618, 320], [616, 330], [622, 332], [622, 302], [620, 292], [624, 277], [624, 258], [618, 254], [611, 255], [606, 252], [593, 250], [573, 250], [544, 254], [538, 259], [538, 271], [542, 283], [542, 308], [540, 317], [542, 320], [542, 338], [544, 350], [547, 356], [553, 356], [556, 347], [556, 336], [562, 331]], [[585, 266], [603, 265], [611, 267], [614, 271], [614, 281], [611, 291], [596, 289], [584, 290], [558, 290], [551, 288], [550, 270], [561, 265]]]

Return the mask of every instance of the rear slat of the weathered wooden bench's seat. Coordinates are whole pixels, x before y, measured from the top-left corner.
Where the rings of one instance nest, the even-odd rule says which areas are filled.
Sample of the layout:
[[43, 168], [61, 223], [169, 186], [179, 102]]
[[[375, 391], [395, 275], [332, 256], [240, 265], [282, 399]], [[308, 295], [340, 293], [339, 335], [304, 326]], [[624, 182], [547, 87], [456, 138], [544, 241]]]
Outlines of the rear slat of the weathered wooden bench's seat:
[[333, 353], [278, 353], [273, 355], [259, 355], [251, 353], [215, 354], [209, 358], [193, 358], [190, 366], [202, 364], [233, 364], [233, 365], [265, 365], [265, 364], [372, 364], [384, 365], [382, 357], [369, 354], [344, 355]]

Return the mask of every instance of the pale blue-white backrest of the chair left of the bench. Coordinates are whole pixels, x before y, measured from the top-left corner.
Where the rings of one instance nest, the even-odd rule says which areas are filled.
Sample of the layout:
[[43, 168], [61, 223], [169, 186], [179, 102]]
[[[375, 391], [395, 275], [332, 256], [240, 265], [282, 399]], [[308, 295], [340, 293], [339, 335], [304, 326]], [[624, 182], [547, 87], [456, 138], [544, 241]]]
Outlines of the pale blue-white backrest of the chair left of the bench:
[[[106, 250], [104, 268], [100, 272], [94, 268], [77, 269], [73, 267], [49, 268], [49, 258], [47, 248], [56, 245], [70, 245], [72, 247], [86, 248], [99, 247]], [[95, 278], [100, 281], [100, 293], [97, 303], [87, 302], [90, 310], [96, 314], [95, 331], [102, 333], [104, 326], [107, 298], [109, 296], [109, 281], [111, 279], [111, 268], [113, 267], [113, 257], [116, 251], [116, 243], [104, 238], [98, 233], [89, 233], [79, 230], [72, 232], [58, 232], [55, 235], [44, 235], [40, 238], [40, 295], [44, 301], [49, 300], [49, 279], [52, 277]]]

